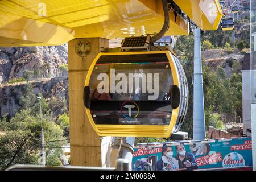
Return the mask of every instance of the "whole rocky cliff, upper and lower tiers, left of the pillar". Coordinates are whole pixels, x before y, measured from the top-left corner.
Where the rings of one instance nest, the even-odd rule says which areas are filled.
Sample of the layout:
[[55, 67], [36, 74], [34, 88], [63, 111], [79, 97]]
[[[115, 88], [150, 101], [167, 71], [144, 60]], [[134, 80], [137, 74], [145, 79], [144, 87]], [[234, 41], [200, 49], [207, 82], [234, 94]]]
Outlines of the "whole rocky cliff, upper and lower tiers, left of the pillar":
[[[23, 96], [27, 82], [7, 84], [13, 78], [24, 76], [25, 71], [32, 73], [30, 83], [34, 93], [42, 93], [51, 102], [53, 97], [68, 99], [68, 78], [59, 77], [59, 67], [68, 63], [68, 45], [44, 47], [0, 47], [0, 117], [4, 114], [15, 115], [19, 100]], [[33, 74], [37, 72], [37, 74]], [[33, 79], [36, 78], [36, 79]], [[53, 110], [54, 115], [62, 108]]]

